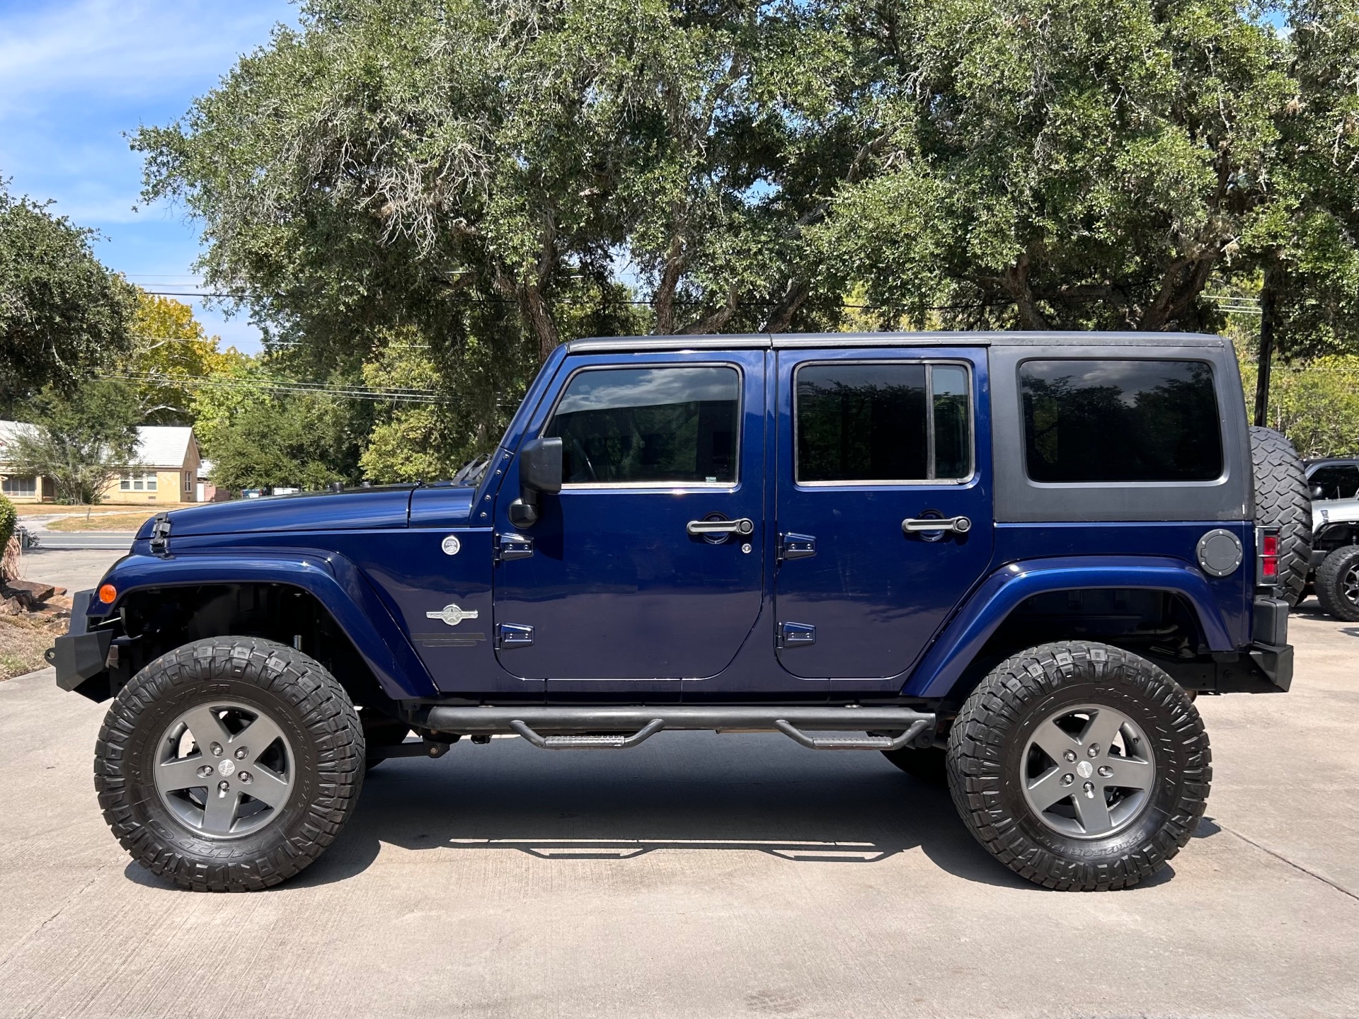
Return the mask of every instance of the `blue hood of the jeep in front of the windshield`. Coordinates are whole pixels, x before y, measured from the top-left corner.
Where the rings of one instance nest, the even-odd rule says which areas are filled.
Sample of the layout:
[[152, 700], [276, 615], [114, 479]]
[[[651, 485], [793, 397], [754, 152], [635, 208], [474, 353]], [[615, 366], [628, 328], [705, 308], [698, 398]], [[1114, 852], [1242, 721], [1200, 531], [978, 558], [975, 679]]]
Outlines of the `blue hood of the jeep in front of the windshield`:
[[[405, 527], [410, 488], [356, 488], [298, 496], [238, 499], [175, 510], [170, 534], [258, 534], [262, 531], [337, 531]], [[155, 518], [141, 524], [137, 538], [149, 538]]]

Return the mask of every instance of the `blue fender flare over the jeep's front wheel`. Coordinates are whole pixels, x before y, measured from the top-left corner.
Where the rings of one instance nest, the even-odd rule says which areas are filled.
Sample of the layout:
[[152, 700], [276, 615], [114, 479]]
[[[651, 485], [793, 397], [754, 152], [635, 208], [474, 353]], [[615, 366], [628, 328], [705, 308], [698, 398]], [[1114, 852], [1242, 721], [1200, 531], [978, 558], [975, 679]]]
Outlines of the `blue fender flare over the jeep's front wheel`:
[[[349, 637], [387, 696], [434, 697], [438, 689], [397, 621], [359, 568], [319, 549], [249, 549], [231, 554], [132, 554], [118, 560], [103, 583], [118, 591], [107, 611], [129, 594], [156, 587], [204, 584], [285, 584], [311, 594]], [[91, 609], [101, 607], [91, 602]]]

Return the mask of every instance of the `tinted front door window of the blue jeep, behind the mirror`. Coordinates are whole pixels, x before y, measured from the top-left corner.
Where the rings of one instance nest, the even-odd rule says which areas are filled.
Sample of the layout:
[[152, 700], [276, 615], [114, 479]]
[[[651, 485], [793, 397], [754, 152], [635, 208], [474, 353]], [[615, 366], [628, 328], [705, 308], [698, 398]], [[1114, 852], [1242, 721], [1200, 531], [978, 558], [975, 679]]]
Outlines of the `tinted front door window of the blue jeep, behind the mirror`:
[[571, 379], [544, 435], [561, 437], [565, 484], [730, 484], [739, 413], [735, 368], [595, 368]]

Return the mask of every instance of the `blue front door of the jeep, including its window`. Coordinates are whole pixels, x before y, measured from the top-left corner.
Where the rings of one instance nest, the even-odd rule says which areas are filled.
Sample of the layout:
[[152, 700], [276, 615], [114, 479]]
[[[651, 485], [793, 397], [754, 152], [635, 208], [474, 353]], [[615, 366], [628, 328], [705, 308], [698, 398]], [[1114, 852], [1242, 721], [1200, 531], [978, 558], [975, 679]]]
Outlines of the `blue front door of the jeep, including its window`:
[[495, 569], [506, 670], [549, 698], [665, 698], [735, 658], [762, 598], [765, 356], [565, 361], [529, 432], [561, 437], [561, 492]]

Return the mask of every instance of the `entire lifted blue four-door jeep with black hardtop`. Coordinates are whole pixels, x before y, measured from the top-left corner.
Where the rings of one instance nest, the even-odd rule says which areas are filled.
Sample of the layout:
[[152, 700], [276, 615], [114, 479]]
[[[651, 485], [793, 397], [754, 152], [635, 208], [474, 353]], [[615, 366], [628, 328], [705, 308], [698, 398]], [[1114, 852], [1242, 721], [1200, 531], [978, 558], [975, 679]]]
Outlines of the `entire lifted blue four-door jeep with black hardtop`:
[[1195, 697], [1288, 689], [1306, 500], [1219, 337], [583, 340], [450, 482], [148, 520], [49, 655], [190, 889], [298, 874], [385, 758], [663, 730], [882, 751], [1117, 889], [1203, 814]]

